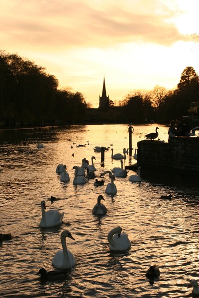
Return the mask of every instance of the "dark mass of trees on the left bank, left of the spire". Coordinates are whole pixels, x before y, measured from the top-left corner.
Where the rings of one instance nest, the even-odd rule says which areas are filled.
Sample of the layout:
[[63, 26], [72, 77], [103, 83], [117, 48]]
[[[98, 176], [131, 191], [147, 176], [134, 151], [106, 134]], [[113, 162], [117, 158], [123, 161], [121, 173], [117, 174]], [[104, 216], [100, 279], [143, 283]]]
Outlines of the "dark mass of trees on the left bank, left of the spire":
[[56, 77], [43, 67], [0, 51], [0, 122], [65, 124], [81, 121], [86, 110], [82, 93], [58, 89]]

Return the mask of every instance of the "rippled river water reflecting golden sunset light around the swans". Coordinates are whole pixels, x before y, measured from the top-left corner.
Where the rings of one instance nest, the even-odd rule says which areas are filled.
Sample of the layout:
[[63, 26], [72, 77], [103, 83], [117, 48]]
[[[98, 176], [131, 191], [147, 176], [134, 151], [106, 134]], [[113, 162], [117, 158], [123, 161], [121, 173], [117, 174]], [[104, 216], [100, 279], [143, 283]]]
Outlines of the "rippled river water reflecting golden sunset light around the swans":
[[[167, 142], [168, 127], [158, 126], [160, 140]], [[155, 132], [156, 125], [133, 128], [135, 149], [145, 134]], [[44, 148], [37, 148], [38, 141]], [[79, 144], [86, 146], [77, 147]], [[111, 159], [110, 150], [101, 164], [95, 146], [122, 153], [129, 147], [127, 126], [0, 131], [0, 232], [13, 236], [0, 244], [0, 297], [192, 297], [188, 280], [199, 280], [198, 184], [170, 177], [159, 177], [156, 182], [152, 174], [141, 183], [132, 183], [128, 176], [136, 173], [129, 171], [126, 178], [115, 178], [114, 196], [105, 193], [108, 175], [103, 177], [104, 186], [95, 187], [94, 180], [74, 186], [72, 168], [80, 166], [84, 157], [90, 163], [91, 157], [96, 157], [97, 178], [101, 172], [120, 166], [118, 160]], [[55, 172], [60, 163], [67, 165], [69, 182], [61, 182]], [[133, 157], [127, 155], [124, 165], [133, 163]], [[100, 194], [107, 214], [98, 217], [92, 209]], [[162, 194], [173, 198], [162, 200]], [[51, 195], [60, 200], [51, 204]], [[64, 224], [39, 227], [42, 200], [47, 210], [64, 211]], [[117, 225], [128, 234], [129, 251], [109, 250], [107, 234]], [[52, 258], [61, 248], [64, 229], [75, 238], [67, 238], [67, 247], [77, 265], [65, 279], [44, 282], [36, 273], [42, 267], [55, 270]], [[161, 274], [151, 282], [145, 272], [154, 264]]]

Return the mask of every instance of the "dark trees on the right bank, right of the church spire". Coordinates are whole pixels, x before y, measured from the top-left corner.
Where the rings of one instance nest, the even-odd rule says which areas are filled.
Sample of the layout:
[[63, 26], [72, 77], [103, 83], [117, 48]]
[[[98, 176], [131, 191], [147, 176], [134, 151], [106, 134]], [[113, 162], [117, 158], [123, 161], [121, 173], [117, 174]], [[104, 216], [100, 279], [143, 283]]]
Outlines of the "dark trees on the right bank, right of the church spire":
[[124, 107], [126, 118], [131, 122], [153, 119], [157, 123], [169, 123], [188, 115], [190, 103], [196, 101], [199, 101], [199, 76], [193, 67], [187, 67], [176, 89], [167, 91], [156, 85], [151, 91], [134, 91], [119, 105]]

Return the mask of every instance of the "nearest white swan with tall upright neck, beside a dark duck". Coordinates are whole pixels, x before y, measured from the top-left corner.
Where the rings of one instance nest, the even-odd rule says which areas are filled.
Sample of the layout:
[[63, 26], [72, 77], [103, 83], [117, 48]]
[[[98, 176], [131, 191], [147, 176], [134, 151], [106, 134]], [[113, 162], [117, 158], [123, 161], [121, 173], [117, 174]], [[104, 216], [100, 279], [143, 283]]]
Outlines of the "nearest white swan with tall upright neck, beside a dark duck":
[[73, 268], [77, 263], [77, 260], [72, 254], [72, 252], [69, 249], [67, 249], [66, 237], [75, 240], [75, 238], [73, 238], [73, 236], [68, 230], [64, 230], [61, 233], [62, 250], [58, 250], [54, 258], [52, 259], [53, 266], [56, 268]]

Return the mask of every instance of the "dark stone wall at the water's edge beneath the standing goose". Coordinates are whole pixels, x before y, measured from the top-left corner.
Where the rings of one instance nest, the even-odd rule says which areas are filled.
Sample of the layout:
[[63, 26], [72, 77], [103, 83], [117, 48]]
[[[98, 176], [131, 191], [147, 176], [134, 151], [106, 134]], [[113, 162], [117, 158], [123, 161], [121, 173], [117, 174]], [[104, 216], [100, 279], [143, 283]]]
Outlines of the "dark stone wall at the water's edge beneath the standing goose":
[[199, 138], [175, 137], [170, 143], [144, 140], [137, 143], [137, 165], [142, 170], [177, 171], [199, 176]]

